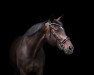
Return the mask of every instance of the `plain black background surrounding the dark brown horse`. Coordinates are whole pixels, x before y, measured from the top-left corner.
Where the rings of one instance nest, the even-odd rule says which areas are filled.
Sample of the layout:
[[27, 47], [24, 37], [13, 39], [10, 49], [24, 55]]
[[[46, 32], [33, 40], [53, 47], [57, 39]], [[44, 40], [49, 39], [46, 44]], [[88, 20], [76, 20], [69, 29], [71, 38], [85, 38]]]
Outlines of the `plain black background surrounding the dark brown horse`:
[[[62, 22], [66, 34], [74, 45], [74, 53], [65, 55], [58, 48], [44, 45], [46, 54], [44, 75], [82, 74], [88, 72], [90, 67], [90, 55], [86, 47], [84, 35], [88, 25], [90, 11], [88, 5], [82, 2], [31, 2], [12, 3], [2, 6], [1, 25], [1, 64], [3, 74], [12, 75], [13, 71], [9, 61], [9, 49], [11, 43], [18, 36], [23, 35], [33, 24], [64, 16]], [[84, 47], [85, 46], [85, 47]], [[89, 63], [88, 63], [89, 62]], [[84, 71], [85, 70], [85, 71]]]

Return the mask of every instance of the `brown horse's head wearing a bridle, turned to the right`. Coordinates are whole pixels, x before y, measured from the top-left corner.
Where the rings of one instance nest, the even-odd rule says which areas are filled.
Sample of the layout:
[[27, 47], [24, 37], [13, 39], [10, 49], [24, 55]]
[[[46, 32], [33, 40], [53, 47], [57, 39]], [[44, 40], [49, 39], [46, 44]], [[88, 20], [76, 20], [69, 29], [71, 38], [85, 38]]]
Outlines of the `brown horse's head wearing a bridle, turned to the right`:
[[62, 25], [59, 19], [54, 19], [53, 22], [46, 22], [46, 39], [49, 44], [57, 46], [60, 50], [64, 50], [65, 54], [72, 54], [74, 47]]

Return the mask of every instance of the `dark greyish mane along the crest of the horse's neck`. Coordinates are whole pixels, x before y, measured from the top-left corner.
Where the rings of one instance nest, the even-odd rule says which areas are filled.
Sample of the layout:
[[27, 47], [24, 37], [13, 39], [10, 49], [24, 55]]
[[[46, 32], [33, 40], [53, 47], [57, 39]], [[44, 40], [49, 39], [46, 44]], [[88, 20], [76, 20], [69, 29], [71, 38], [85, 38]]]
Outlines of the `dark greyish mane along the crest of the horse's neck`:
[[44, 26], [44, 22], [34, 24], [32, 27], [30, 27], [24, 35], [33, 35], [36, 32], [38, 32], [42, 27]]

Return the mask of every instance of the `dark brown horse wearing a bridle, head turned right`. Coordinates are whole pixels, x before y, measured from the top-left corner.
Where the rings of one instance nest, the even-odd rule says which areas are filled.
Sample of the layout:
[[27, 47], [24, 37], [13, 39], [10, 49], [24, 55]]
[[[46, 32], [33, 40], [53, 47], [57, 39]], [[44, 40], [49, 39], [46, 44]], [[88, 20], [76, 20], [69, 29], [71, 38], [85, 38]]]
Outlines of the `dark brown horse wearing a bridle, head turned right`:
[[60, 17], [53, 21], [37, 23], [18, 37], [11, 46], [10, 58], [20, 75], [43, 75], [43, 45], [46, 42], [63, 50], [65, 54], [73, 53], [73, 44], [65, 33]]

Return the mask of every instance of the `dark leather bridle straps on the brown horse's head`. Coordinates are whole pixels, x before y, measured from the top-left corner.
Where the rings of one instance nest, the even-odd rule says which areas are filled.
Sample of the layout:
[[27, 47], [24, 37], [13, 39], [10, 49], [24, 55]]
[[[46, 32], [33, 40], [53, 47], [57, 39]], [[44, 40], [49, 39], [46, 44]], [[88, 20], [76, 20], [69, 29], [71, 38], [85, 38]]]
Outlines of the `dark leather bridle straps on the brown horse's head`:
[[[56, 23], [51, 23], [51, 24], [49, 24], [49, 28], [50, 28], [50, 38], [51, 38], [51, 34], [52, 34], [52, 35], [55, 37], [56, 41], [57, 41], [61, 46], [64, 46], [65, 42], [66, 42], [67, 40], [69, 40], [70, 38], [69, 38], [68, 36], [66, 36], [64, 40], [60, 41], [60, 40], [58, 39], [58, 35], [54, 32], [55, 29], [51, 26], [51, 25], [53, 25], [53, 24], [56, 24]], [[57, 24], [56, 24], [56, 25], [57, 25]], [[61, 28], [62, 28], [62, 27], [61, 27]]]

